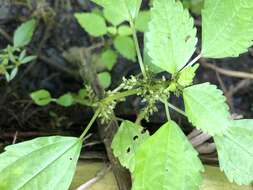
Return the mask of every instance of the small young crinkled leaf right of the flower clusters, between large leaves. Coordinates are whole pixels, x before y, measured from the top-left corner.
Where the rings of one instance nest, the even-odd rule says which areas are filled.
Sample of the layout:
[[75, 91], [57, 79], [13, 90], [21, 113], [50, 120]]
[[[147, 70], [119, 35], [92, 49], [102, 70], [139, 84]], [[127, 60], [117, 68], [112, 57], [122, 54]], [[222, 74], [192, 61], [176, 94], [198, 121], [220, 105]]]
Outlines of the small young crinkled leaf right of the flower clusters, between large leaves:
[[198, 69], [199, 64], [194, 66], [186, 67], [179, 73], [179, 78], [177, 80], [178, 84], [182, 87], [186, 87], [192, 84], [195, 77], [195, 72]]

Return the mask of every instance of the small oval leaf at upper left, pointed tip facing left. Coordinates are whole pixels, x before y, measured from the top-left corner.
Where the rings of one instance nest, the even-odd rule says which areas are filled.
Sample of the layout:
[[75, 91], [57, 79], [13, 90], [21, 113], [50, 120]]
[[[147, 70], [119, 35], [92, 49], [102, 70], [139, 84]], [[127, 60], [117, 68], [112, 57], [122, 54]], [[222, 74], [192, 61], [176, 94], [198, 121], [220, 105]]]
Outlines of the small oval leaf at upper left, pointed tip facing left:
[[95, 13], [76, 13], [75, 17], [90, 35], [99, 37], [107, 33], [106, 23], [102, 16]]

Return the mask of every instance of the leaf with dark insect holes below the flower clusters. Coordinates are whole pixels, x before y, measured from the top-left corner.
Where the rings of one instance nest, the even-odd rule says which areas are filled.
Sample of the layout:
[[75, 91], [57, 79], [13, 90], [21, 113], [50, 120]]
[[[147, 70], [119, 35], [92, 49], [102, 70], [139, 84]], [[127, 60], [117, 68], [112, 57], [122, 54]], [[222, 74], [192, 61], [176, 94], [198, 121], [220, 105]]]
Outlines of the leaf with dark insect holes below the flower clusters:
[[123, 121], [112, 141], [113, 154], [122, 166], [133, 172], [135, 154], [140, 145], [149, 137], [148, 132], [130, 121]]

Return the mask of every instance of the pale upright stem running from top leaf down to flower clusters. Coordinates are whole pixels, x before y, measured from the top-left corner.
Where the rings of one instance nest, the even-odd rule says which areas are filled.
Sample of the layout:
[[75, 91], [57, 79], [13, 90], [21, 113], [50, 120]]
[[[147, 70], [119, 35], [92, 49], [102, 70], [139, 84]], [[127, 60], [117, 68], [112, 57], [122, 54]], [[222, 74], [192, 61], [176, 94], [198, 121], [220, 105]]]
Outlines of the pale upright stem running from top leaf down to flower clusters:
[[130, 19], [129, 23], [130, 23], [130, 27], [131, 27], [132, 32], [133, 32], [135, 49], [136, 49], [136, 53], [137, 53], [137, 57], [138, 57], [138, 62], [139, 62], [140, 68], [141, 68], [141, 72], [142, 72], [144, 78], [147, 78], [147, 73], [146, 73], [145, 66], [144, 66], [144, 63], [143, 63], [143, 60], [142, 60], [140, 46], [139, 46], [138, 38], [137, 38], [137, 35], [136, 35], [136, 29], [135, 29], [133, 19]]

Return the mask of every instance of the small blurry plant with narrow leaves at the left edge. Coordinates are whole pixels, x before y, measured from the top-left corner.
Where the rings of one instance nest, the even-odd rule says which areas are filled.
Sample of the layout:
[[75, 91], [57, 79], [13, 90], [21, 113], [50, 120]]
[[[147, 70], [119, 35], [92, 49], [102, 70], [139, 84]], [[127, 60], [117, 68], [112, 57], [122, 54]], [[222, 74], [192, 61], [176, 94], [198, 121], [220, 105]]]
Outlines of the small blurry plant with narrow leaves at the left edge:
[[20, 65], [36, 59], [36, 56], [28, 56], [25, 49], [32, 39], [35, 27], [36, 21], [33, 19], [23, 23], [14, 33], [13, 45], [0, 50], [0, 75], [5, 75], [8, 82], [16, 76]]

